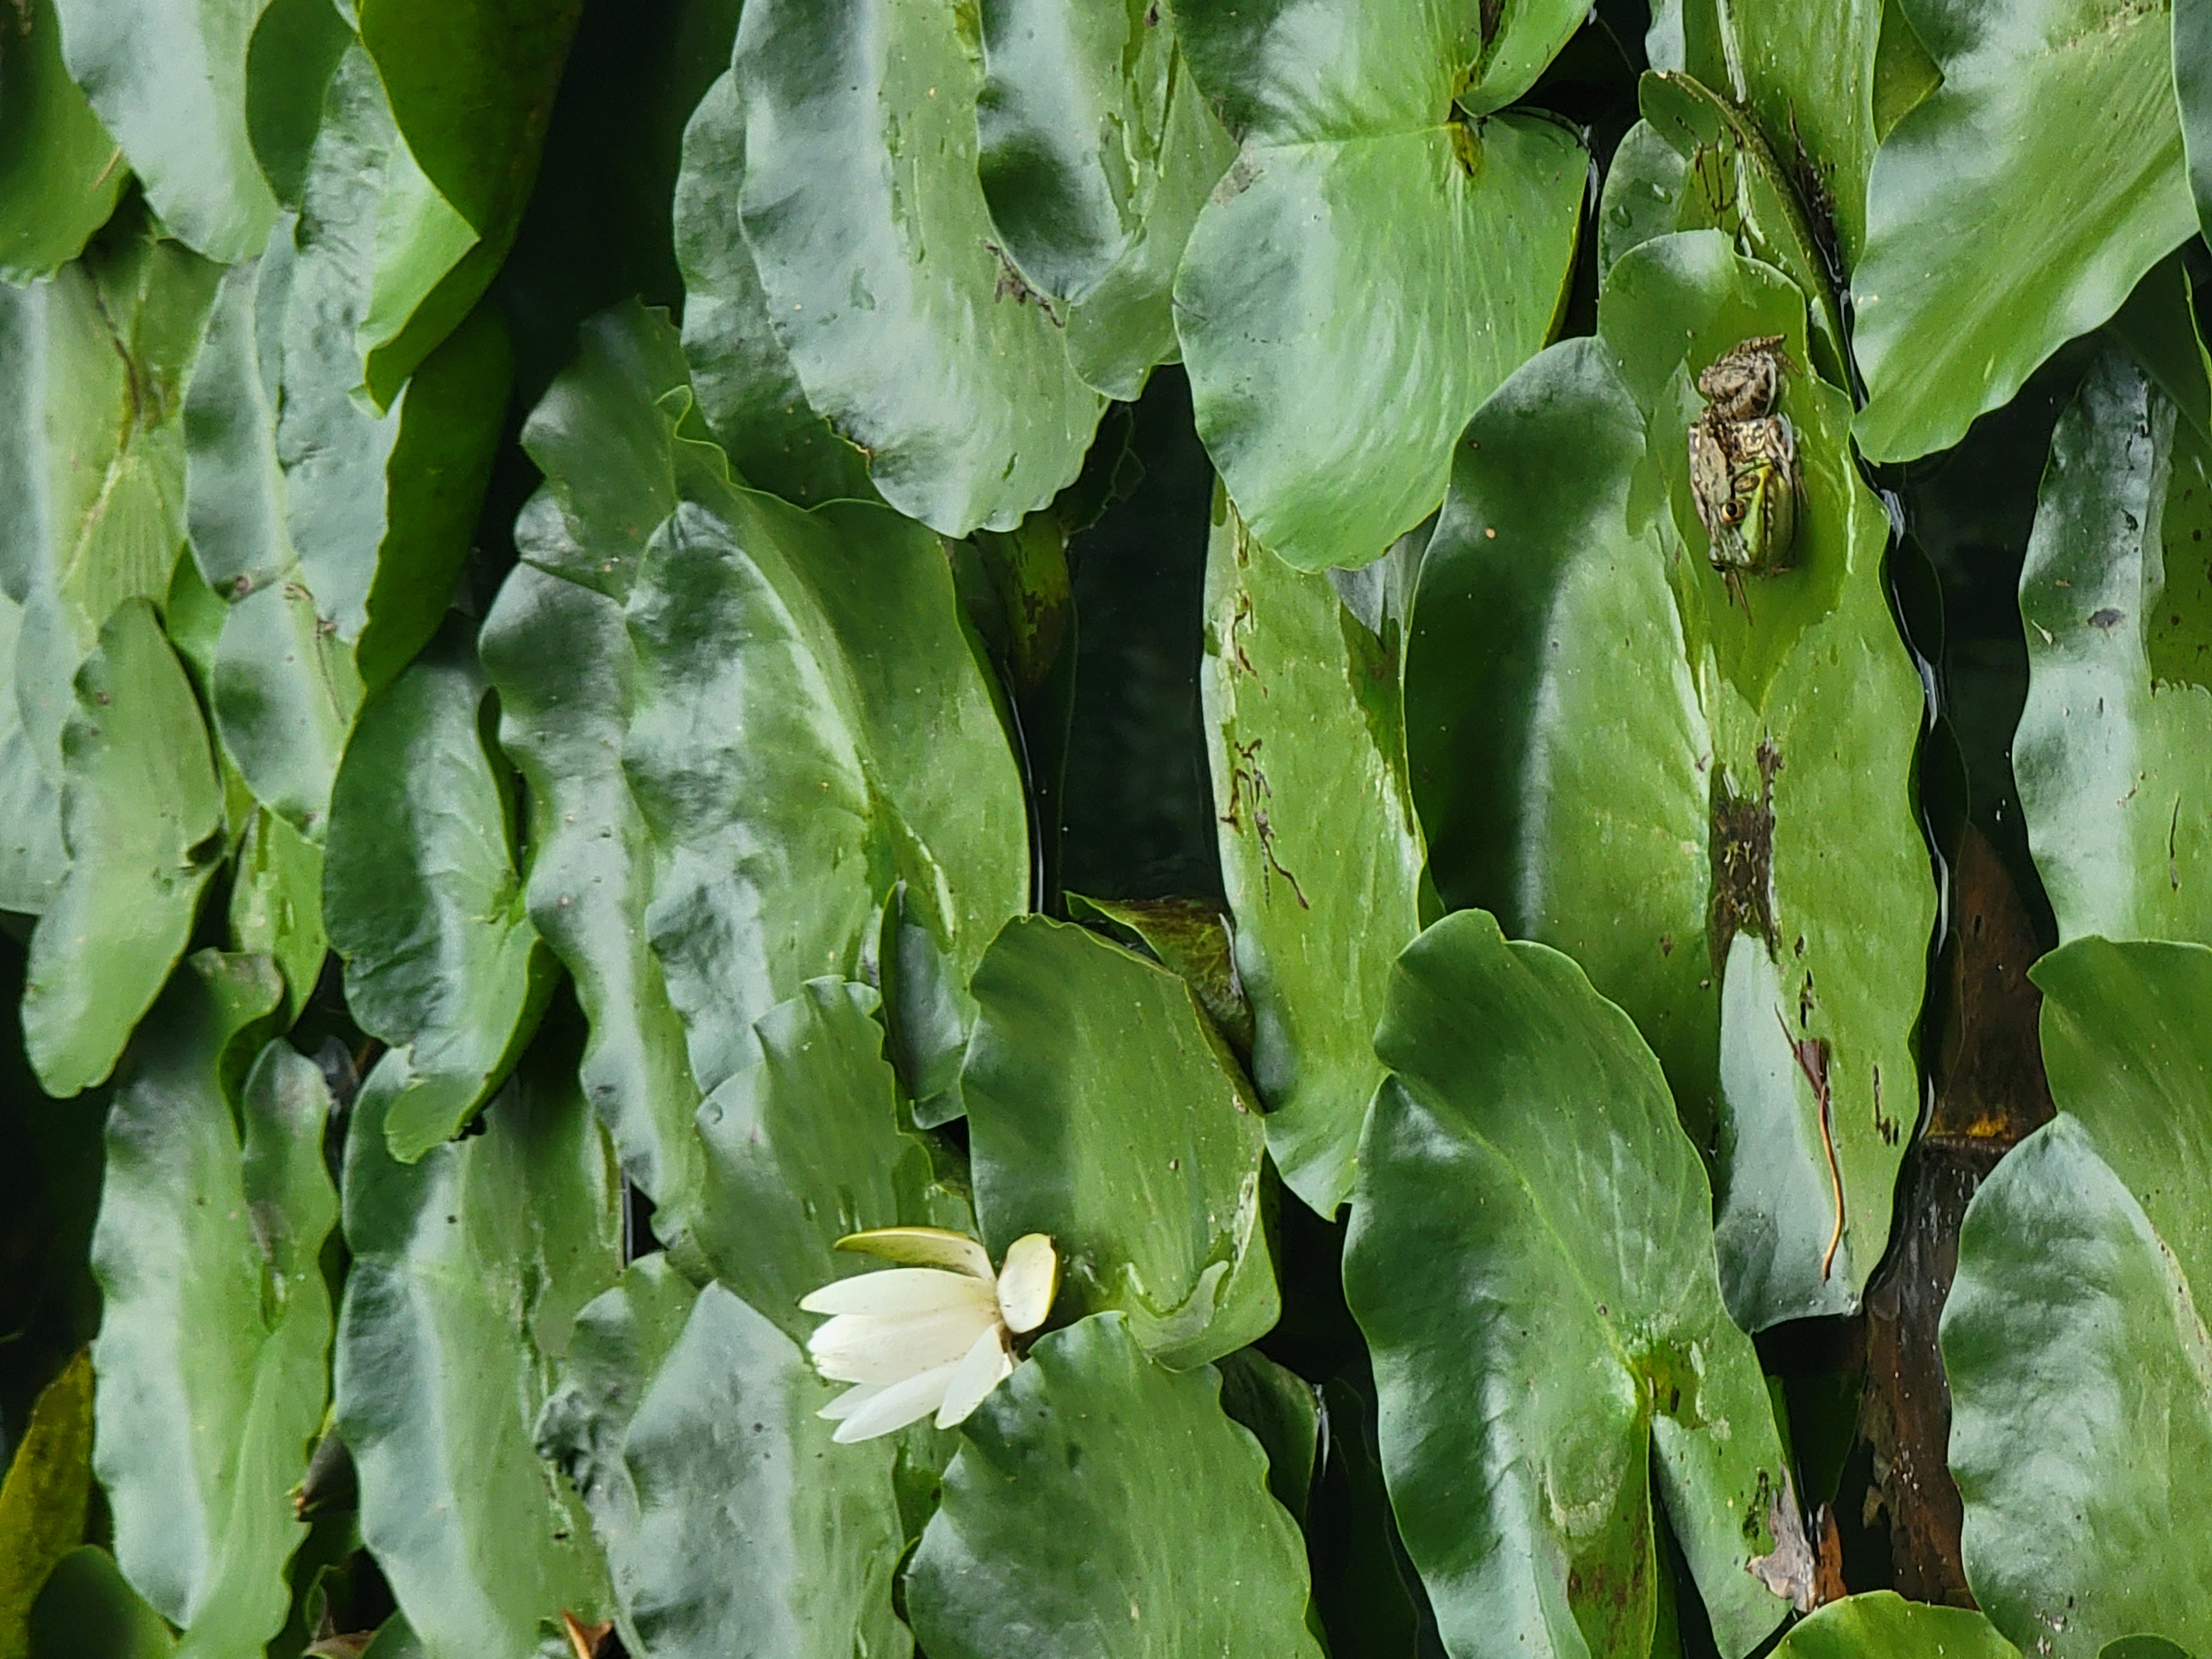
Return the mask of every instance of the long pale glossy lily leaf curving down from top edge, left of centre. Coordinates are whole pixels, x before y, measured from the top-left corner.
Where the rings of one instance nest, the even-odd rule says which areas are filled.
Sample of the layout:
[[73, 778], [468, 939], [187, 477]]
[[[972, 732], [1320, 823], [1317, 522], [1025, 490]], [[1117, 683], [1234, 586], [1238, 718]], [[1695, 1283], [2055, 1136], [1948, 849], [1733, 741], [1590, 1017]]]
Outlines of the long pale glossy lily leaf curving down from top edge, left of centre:
[[1011, 531], [1075, 480], [1104, 398], [995, 252], [958, 13], [754, 0], [734, 69], [743, 228], [721, 234], [752, 248], [807, 403], [898, 511]]

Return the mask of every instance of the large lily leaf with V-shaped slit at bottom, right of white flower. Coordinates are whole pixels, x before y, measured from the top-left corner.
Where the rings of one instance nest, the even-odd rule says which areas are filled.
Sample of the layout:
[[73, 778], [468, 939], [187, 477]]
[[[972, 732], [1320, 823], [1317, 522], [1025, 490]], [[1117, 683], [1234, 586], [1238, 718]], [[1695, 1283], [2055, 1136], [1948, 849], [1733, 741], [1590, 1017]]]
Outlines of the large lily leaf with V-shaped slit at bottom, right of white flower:
[[1444, 1646], [1648, 1655], [1657, 1495], [1721, 1652], [1750, 1652], [1787, 1613], [1756, 1577], [1776, 1528], [1803, 1537], [1659, 1062], [1482, 911], [1398, 958], [1376, 1053], [1345, 1298]]

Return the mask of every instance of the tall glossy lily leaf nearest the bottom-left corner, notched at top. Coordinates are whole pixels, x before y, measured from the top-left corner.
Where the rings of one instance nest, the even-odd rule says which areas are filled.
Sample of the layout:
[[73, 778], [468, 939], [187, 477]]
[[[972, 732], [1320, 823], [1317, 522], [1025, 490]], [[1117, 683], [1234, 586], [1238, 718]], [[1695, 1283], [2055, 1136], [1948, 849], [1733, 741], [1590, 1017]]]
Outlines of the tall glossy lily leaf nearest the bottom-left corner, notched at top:
[[243, 1088], [223, 1077], [232, 1035], [279, 993], [265, 958], [195, 956], [108, 1115], [95, 1467], [115, 1559], [186, 1630], [184, 1652], [252, 1652], [283, 1626], [283, 1568], [307, 1535], [285, 1493], [330, 1389], [330, 1091], [281, 1040]]

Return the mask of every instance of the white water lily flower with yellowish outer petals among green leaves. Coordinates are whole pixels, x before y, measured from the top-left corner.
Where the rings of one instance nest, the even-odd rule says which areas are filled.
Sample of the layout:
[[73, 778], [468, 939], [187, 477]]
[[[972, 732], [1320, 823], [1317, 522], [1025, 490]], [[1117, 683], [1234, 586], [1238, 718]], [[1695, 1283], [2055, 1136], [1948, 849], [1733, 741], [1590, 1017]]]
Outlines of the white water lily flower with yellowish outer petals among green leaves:
[[931, 1411], [951, 1429], [1006, 1380], [1013, 1338], [1044, 1323], [1060, 1290], [1060, 1252], [1042, 1232], [1015, 1239], [995, 1274], [980, 1243], [942, 1228], [876, 1228], [836, 1248], [902, 1265], [799, 1303], [830, 1314], [807, 1343], [814, 1369], [854, 1385], [821, 1409], [836, 1422], [832, 1440], [872, 1440]]

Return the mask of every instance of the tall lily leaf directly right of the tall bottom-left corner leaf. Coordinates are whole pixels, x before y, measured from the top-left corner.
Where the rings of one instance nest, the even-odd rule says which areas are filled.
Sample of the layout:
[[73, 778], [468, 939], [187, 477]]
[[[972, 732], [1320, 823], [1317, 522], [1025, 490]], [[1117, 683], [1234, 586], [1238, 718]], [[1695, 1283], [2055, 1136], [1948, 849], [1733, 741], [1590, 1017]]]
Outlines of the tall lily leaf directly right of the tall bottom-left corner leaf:
[[622, 1270], [615, 1159], [573, 1073], [573, 1046], [540, 1046], [482, 1135], [416, 1164], [392, 1159], [376, 1091], [354, 1102], [336, 1422], [361, 1537], [429, 1659], [535, 1659], [540, 1621], [611, 1606], [533, 1442], [577, 1310]]

